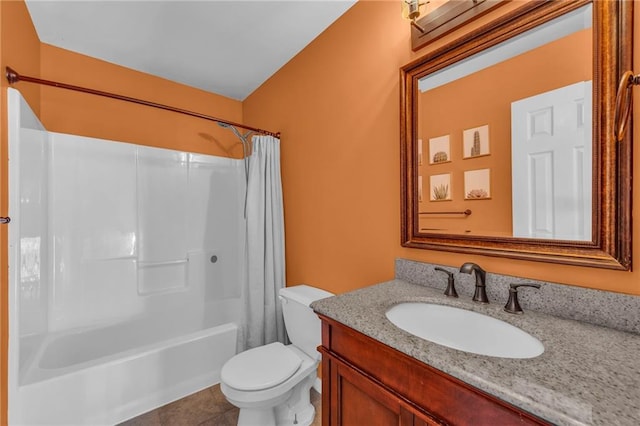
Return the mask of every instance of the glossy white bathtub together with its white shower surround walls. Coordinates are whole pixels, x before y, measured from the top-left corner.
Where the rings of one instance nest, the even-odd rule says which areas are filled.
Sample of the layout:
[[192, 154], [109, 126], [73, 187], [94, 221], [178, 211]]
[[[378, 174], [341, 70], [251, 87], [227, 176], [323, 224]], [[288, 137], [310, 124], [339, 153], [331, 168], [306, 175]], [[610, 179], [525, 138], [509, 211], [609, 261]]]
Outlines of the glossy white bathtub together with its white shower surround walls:
[[115, 424], [218, 383], [241, 160], [47, 132], [9, 89], [9, 422]]

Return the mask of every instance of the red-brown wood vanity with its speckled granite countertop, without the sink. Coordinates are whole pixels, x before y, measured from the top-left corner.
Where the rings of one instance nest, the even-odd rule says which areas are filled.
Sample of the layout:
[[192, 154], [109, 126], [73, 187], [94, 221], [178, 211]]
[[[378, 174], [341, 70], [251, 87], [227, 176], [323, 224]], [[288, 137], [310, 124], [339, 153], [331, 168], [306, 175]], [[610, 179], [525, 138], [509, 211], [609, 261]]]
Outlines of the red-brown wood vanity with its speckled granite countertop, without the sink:
[[[314, 302], [323, 324], [323, 424], [637, 424], [639, 335], [466, 299], [393, 280]], [[545, 351], [509, 359], [429, 342], [386, 318], [407, 301], [492, 316]]]

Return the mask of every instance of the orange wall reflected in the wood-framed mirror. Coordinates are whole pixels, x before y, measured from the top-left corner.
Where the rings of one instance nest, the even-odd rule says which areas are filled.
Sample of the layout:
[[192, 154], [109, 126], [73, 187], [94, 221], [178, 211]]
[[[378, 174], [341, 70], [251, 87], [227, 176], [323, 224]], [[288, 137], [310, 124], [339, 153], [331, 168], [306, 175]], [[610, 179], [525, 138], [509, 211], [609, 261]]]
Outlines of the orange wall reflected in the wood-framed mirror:
[[[418, 135], [424, 161], [420, 212], [464, 211], [460, 215], [421, 215], [420, 229], [438, 228], [466, 235], [512, 236], [511, 109], [512, 102], [553, 89], [591, 80], [591, 29], [460, 78], [419, 95]], [[540, 72], [552, 61], [554, 72]], [[489, 126], [490, 155], [463, 159], [462, 132]], [[449, 162], [430, 164], [429, 139], [449, 135]], [[468, 155], [469, 153], [467, 153]], [[464, 172], [490, 170], [490, 199], [467, 200]], [[431, 175], [449, 174], [451, 199], [431, 201]]]

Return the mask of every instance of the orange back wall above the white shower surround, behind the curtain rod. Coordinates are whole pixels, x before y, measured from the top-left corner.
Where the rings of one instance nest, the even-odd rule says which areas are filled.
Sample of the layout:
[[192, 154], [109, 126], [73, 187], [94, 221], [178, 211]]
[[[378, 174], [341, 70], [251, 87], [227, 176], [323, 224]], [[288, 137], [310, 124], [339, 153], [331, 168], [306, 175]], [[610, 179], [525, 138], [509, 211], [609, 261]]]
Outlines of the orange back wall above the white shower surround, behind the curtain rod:
[[[20, 70], [19, 70], [20, 71]], [[242, 103], [48, 44], [42, 78], [242, 122]], [[20, 90], [24, 85], [16, 85]], [[242, 146], [214, 122], [147, 106], [42, 86], [44, 126], [54, 132], [239, 158]]]

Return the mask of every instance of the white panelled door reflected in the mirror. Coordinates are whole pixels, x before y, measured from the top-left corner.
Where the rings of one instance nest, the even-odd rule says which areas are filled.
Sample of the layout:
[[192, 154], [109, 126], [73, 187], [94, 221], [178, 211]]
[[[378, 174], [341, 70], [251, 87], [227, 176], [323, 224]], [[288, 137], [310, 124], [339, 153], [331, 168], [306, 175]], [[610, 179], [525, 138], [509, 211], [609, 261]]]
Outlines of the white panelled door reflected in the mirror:
[[591, 86], [511, 104], [514, 237], [591, 240]]

